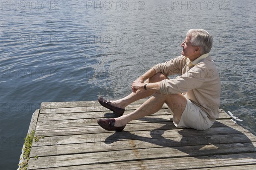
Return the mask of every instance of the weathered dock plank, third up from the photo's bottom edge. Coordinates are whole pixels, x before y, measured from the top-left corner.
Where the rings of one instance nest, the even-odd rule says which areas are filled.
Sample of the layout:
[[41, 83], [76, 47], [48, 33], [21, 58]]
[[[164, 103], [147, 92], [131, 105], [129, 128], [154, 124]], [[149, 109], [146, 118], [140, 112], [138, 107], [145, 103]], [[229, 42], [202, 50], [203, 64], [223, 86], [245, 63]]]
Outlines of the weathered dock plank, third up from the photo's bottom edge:
[[[201, 135], [194, 136], [182, 136], [182, 137], [166, 137], [166, 138], [152, 138], [144, 137], [143, 139], [137, 139], [134, 135], [126, 140], [106, 141], [101, 138], [87, 138], [84, 143], [79, 144], [65, 144], [65, 145], [51, 145], [51, 146], [39, 146], [32, 147], [30, 157], [37, 156], [56, 156], [67, 155], [77, 153], [93, 153], [93, 152], [105, 152], [110, 150], [129, 150], [129, 149], [143, 149], [143, 148], [156, 148], [156, 147], [182, 147], [182, 146], [194, 146], [202, 145], [204, 147], [207, 144], [233, 144], [233, 143], [250, 143], [256, 142], [256, 139], [248, 134], [248, 136], [239, 134], [228, 135], [208, 135], [207, 137]], [[138, 136], [141, 138], [141, 136]], [[82, 142], [82, 141], [81, 141]], [[252, 146], [252, 149], [254, 147]], [[233, 150], [234, 148], [230, 148]], [[216, 153], [217, 154], [217, 153]]]

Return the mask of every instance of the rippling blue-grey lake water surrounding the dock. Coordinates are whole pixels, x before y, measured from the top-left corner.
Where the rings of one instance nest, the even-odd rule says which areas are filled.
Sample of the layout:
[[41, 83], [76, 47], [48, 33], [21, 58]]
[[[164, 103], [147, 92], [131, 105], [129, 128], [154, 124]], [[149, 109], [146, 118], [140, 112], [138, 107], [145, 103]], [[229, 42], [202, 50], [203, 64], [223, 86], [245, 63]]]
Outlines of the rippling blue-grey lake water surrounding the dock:
[[41, 102], [118, 99], [180, 55], [187, 30], [214, 37], [221, 108], [256, 134], [254, 0], [0, 1], [0, 169], [17, 169]]

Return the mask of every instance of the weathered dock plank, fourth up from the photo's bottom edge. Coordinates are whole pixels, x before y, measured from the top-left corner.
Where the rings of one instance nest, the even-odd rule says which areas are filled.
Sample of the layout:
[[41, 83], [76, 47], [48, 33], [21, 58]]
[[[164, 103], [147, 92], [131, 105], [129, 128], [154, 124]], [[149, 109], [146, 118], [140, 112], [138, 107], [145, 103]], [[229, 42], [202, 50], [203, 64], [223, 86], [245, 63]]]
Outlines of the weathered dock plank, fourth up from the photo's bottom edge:
[[[145, 130], [145, 131], [132, 131], [132, 132], [122, 132], [122, 133], [92, 133], [92, 134], [80, 134], [80, 135], [61, 135], [61, 136], [49, 136], [40, 139], [38, 142], [33, 142], [33, 147], [35, 146], [47, 146], [47, 145], [60, 145], [60, 144], [78, 144], [87, 142], [103, 142], [103, 141], [120, 141], [127, 139], [145, 139], [145, 138], [183, 138], [183, 137], [194, 137], [201, 136], [211, 140], [212, 135], [231, 135], [231, 134], [244, 134], [244, 137], [249, 136], [251, 141], [255, 141], [256, 137], [244, 130], [243, 128], [236, 130], [227, 127], [211, 127], [205, 131], [197, 131], [193, 129], [172, 129], [172, 130]], [[225, 140], [227, 138], [220, 138], [220, 140]], [[230, 139], [232, 140], [232, 139]]]

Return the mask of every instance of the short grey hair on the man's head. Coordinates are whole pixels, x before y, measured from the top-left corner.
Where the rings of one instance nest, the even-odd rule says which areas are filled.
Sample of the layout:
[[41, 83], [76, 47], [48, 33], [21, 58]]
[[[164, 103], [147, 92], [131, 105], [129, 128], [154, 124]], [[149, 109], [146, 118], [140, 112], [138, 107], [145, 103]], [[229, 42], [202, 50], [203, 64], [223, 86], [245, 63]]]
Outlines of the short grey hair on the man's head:
[[186, 36], [189, 36], [189, 42], [192, 46], [200, 47], [202, 55], [211, 51], [213, 38], [204, 29], [190, 29]]

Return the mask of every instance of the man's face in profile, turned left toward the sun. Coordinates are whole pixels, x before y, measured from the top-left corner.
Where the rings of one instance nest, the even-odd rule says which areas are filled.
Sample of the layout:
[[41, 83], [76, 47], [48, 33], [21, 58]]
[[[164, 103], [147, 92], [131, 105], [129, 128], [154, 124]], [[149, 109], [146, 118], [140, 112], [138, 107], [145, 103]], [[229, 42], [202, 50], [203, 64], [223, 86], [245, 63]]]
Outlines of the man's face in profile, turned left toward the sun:
[[[185, 40], [183, 43], [181, 43], [182, 46], [182, 52], [181, 55], [189, 58], [191, 61], [195, 60], [197, 54], [196, 52], [196, 46], [192, 46], [192, 44], [189, 42], [189, 36], [186, 36]], [[196, 52], [197, 53], [197, 52]]]

